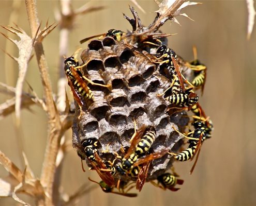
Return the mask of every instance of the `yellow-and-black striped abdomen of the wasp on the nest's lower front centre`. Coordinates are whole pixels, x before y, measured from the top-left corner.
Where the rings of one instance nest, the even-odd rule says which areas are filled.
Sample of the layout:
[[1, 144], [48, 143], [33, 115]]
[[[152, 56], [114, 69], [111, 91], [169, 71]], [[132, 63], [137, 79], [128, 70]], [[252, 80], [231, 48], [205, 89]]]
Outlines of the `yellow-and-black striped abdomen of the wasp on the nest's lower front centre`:
[[139, 141], [135, 153], [137, 155], [141, 155], [142, 153], [145, 153], [149, 150], [153, 142], [156, 138], [156, 132], [155, 131], [148, 131]]

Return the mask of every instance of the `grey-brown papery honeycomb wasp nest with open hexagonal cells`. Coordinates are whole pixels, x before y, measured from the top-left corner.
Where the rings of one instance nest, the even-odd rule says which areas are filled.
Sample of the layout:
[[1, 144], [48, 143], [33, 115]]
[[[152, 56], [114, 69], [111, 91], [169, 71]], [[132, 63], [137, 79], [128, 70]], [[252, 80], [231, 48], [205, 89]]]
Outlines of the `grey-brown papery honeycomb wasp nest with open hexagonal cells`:
[[[83, 73], [89, 79], [101, 84], [112, 85], [112, 90], [88, 84], [94, 94], [91, 105], [76, 107], [73, 122], [73, 147], [80, 157], [84, 156], [82, 142], [88, 138], [99, 141], [99, 156], [103, 161], [113, 161], [114, 153], [124, 157], [121, 148], [130, 146], [134, 133], [134, 122], [137, 129], [142, 125], [152, 126], [156, 130], [156, 139], [150, 148], [151, 152], [170, 148], [176, 152], [182, 145], [182, 136], [172, 126], [182, 128], [188, 124], [185, 112], [168, 112], [169, 103], [158, 94], [167, 89], [171, 81], [160, 74], [159, 64], [152, 61], [152, 55], [117, 42], [112, 37], [93, 40], [88, 49], [81, 54]], [[107, 150], [108, 152], [101, 152]], [[152, 162], [147, 180], [157, 176], [172, 166], [173, 158], [165, 155]], [[89, 164], [89, 162], [87, 162]], [[134, 178], [114, 177], [129, 181]]]

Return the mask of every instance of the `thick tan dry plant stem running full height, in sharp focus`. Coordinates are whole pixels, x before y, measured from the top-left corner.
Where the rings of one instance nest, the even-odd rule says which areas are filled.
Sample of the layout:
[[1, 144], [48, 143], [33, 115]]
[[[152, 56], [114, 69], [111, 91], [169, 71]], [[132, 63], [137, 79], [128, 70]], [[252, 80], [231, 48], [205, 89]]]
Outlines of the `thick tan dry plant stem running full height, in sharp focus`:
[[[32, 36], [35, 36], [37, 28], [39, 27], [39, 21], [37, 17], [36, 1], [26, 0], [26, 9], [28, 14], [28, 21], [31, 27]], [[43, 85], [43, 95], [46, 101], [47, 114], [49, 118], [49, 135], [47, 139], [46, 152], [44, 154], [44, 161], [41, 173], [41, 184], [45, 188], [47, 198], [45, 202], [38, 202], [44, 205], [53, 205], [53, 183], [55, 174], [55, 161], [59, 148], [59, 141], [62, 136], [61, 122], [55, 102], [52, 98], [51, 82], [48, 74], [48, 65], [46, 57], [44, 56], [43, 46], [41, 42], [35, 42], [35, 53], [37, 57], [37, 63], [40, 70], [40, 76]]]

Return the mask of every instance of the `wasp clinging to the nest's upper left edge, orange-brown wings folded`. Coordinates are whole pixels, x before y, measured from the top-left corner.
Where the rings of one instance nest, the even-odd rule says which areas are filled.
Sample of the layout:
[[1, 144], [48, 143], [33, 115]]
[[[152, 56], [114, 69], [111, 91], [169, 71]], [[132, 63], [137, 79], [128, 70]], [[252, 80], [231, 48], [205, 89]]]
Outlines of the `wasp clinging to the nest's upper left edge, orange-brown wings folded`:
[[85, 77], [81, 71], [78, 70], [78, 68], [81, 68], [82, 66], [79, 66], [79, 62], [75, 57], [71, 56], [66, 58], [64, 63], [64, 70], [68, 78], [68, 85], [71, 88], [74, 99], [76, 99], [80, 107], [83, 106], [83, 101], [80, 96], [82, 96], [86, 101], [90, 102], [92, 102], [94, 99], [92, 90], [88, 87], [86, 82], [89, 82], [92, 85], [99, 85], [101, 87], [110, 87], [110, 85], [95, 83]]

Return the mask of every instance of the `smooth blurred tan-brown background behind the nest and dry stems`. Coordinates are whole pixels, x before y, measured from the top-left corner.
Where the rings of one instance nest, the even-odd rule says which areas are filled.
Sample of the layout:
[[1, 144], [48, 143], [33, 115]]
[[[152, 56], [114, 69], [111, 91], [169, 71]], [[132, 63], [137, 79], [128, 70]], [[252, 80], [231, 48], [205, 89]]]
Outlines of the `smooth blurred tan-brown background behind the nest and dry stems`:
[[[193, 162], [175, 162], [176, 172], [185, 181], [182, 189], [177, 192], [163, 191], [146, 183], [137, 198], [127, 198], [105, 194], [97, 187], [85, 194], [78, 205], [256, 204], [256, 29], [253, 30], [251, 39], [247, 40], [246, 1], [199, 2], [203, 4], [183, 10], [194, 22], [179, 16], [178, 21], [182, 26], [167, 22], [161, 28], [165, 33], [177, 33], [169, 37], [169, 47], [178, 55], [186, 60], [193, 60], [192, 46], [195, 45], [198, 48], [198, 58], [208, 67], [205, 92], [200, 98], [200, 104], [212, 119], [215, 129], [213, 138], [203, 144], [193, 174], [189, 174]], [[84, 3], [86, 2], [73, 1], [72, 6], [78, 8]], [[81, 46], [79, 41], [85, 37], [106, 32], [111, 28], [123, 31], [131, 29], [122, 14], [132, 16], [128, 5], [135, 7], [144, 25], [149, 25], [155, 18], [153, 11], [158, 6], [153, 0], [138, 3], [146, 14], [130, 1], [92, 1], [91, 5], [106, 6], [106, 9], [86, 14], [78, 20], [70, 34], [68, 55], [72, 55]], [[12, 4], [12, 1], [1, 1], [0, 25], [13, 26], [9, 22], [13, 11]], [[19, 16], [15, 23], [29, 33], [25, 3], [21, 2], [18, 8]], [[38, 1], [38, 15], [42, 25], [48, 19], [50, 23], [55, 22], [54, 11], [57, 8], [57, 1]], [[3, 28], [0, 31], [6, 33]], [[58, 39], [59, 32], [56, 28], [43, 41], [55, 92], [58, 79]], [[85, 48], [86, 44], [82, 47]], [[6, 39], [3, 36], [0, 37], [0, 48], [6, 49]], [[12, 45], [7, 52], [18, 56], [18, 49]], [[3, 52], [0, 54], [0, 81], [14, 87], [18, 65]], [[26, 81], [42, 97], [36, 58], [29, 64]], [[28, 91], [27, 85], [24, 86], [24, 91]], [[0, 103], [8, 98], [0, 94]], [[47, 138], [47, 117], [39, 107], [33, 106], [31, 109], [33, 112], [22, 110], [20, 130], [15, 127], [14, 116], [10, 115], [0, 121], [0, 149], [20, 167], [19, 150], [22, 148], [35, 176], [40, 177]], [[70, 129], [66, 132], [66, 138], [71, 140], [71, 135]], [[6, 175], [7, 172], [1, 166], [0, 176]], [[84, 183], [88, 183], [88, 186], [94, 184], [87, 177], [98, 180], [94, 172], [86, 169], [86, 173], [83, 173], [80, 158], [71, 149], [63, 164], [63, 190], [72, 194]], [[0, 199], [0, 205], [8, 204], [17, 203], [11, 198]]]

